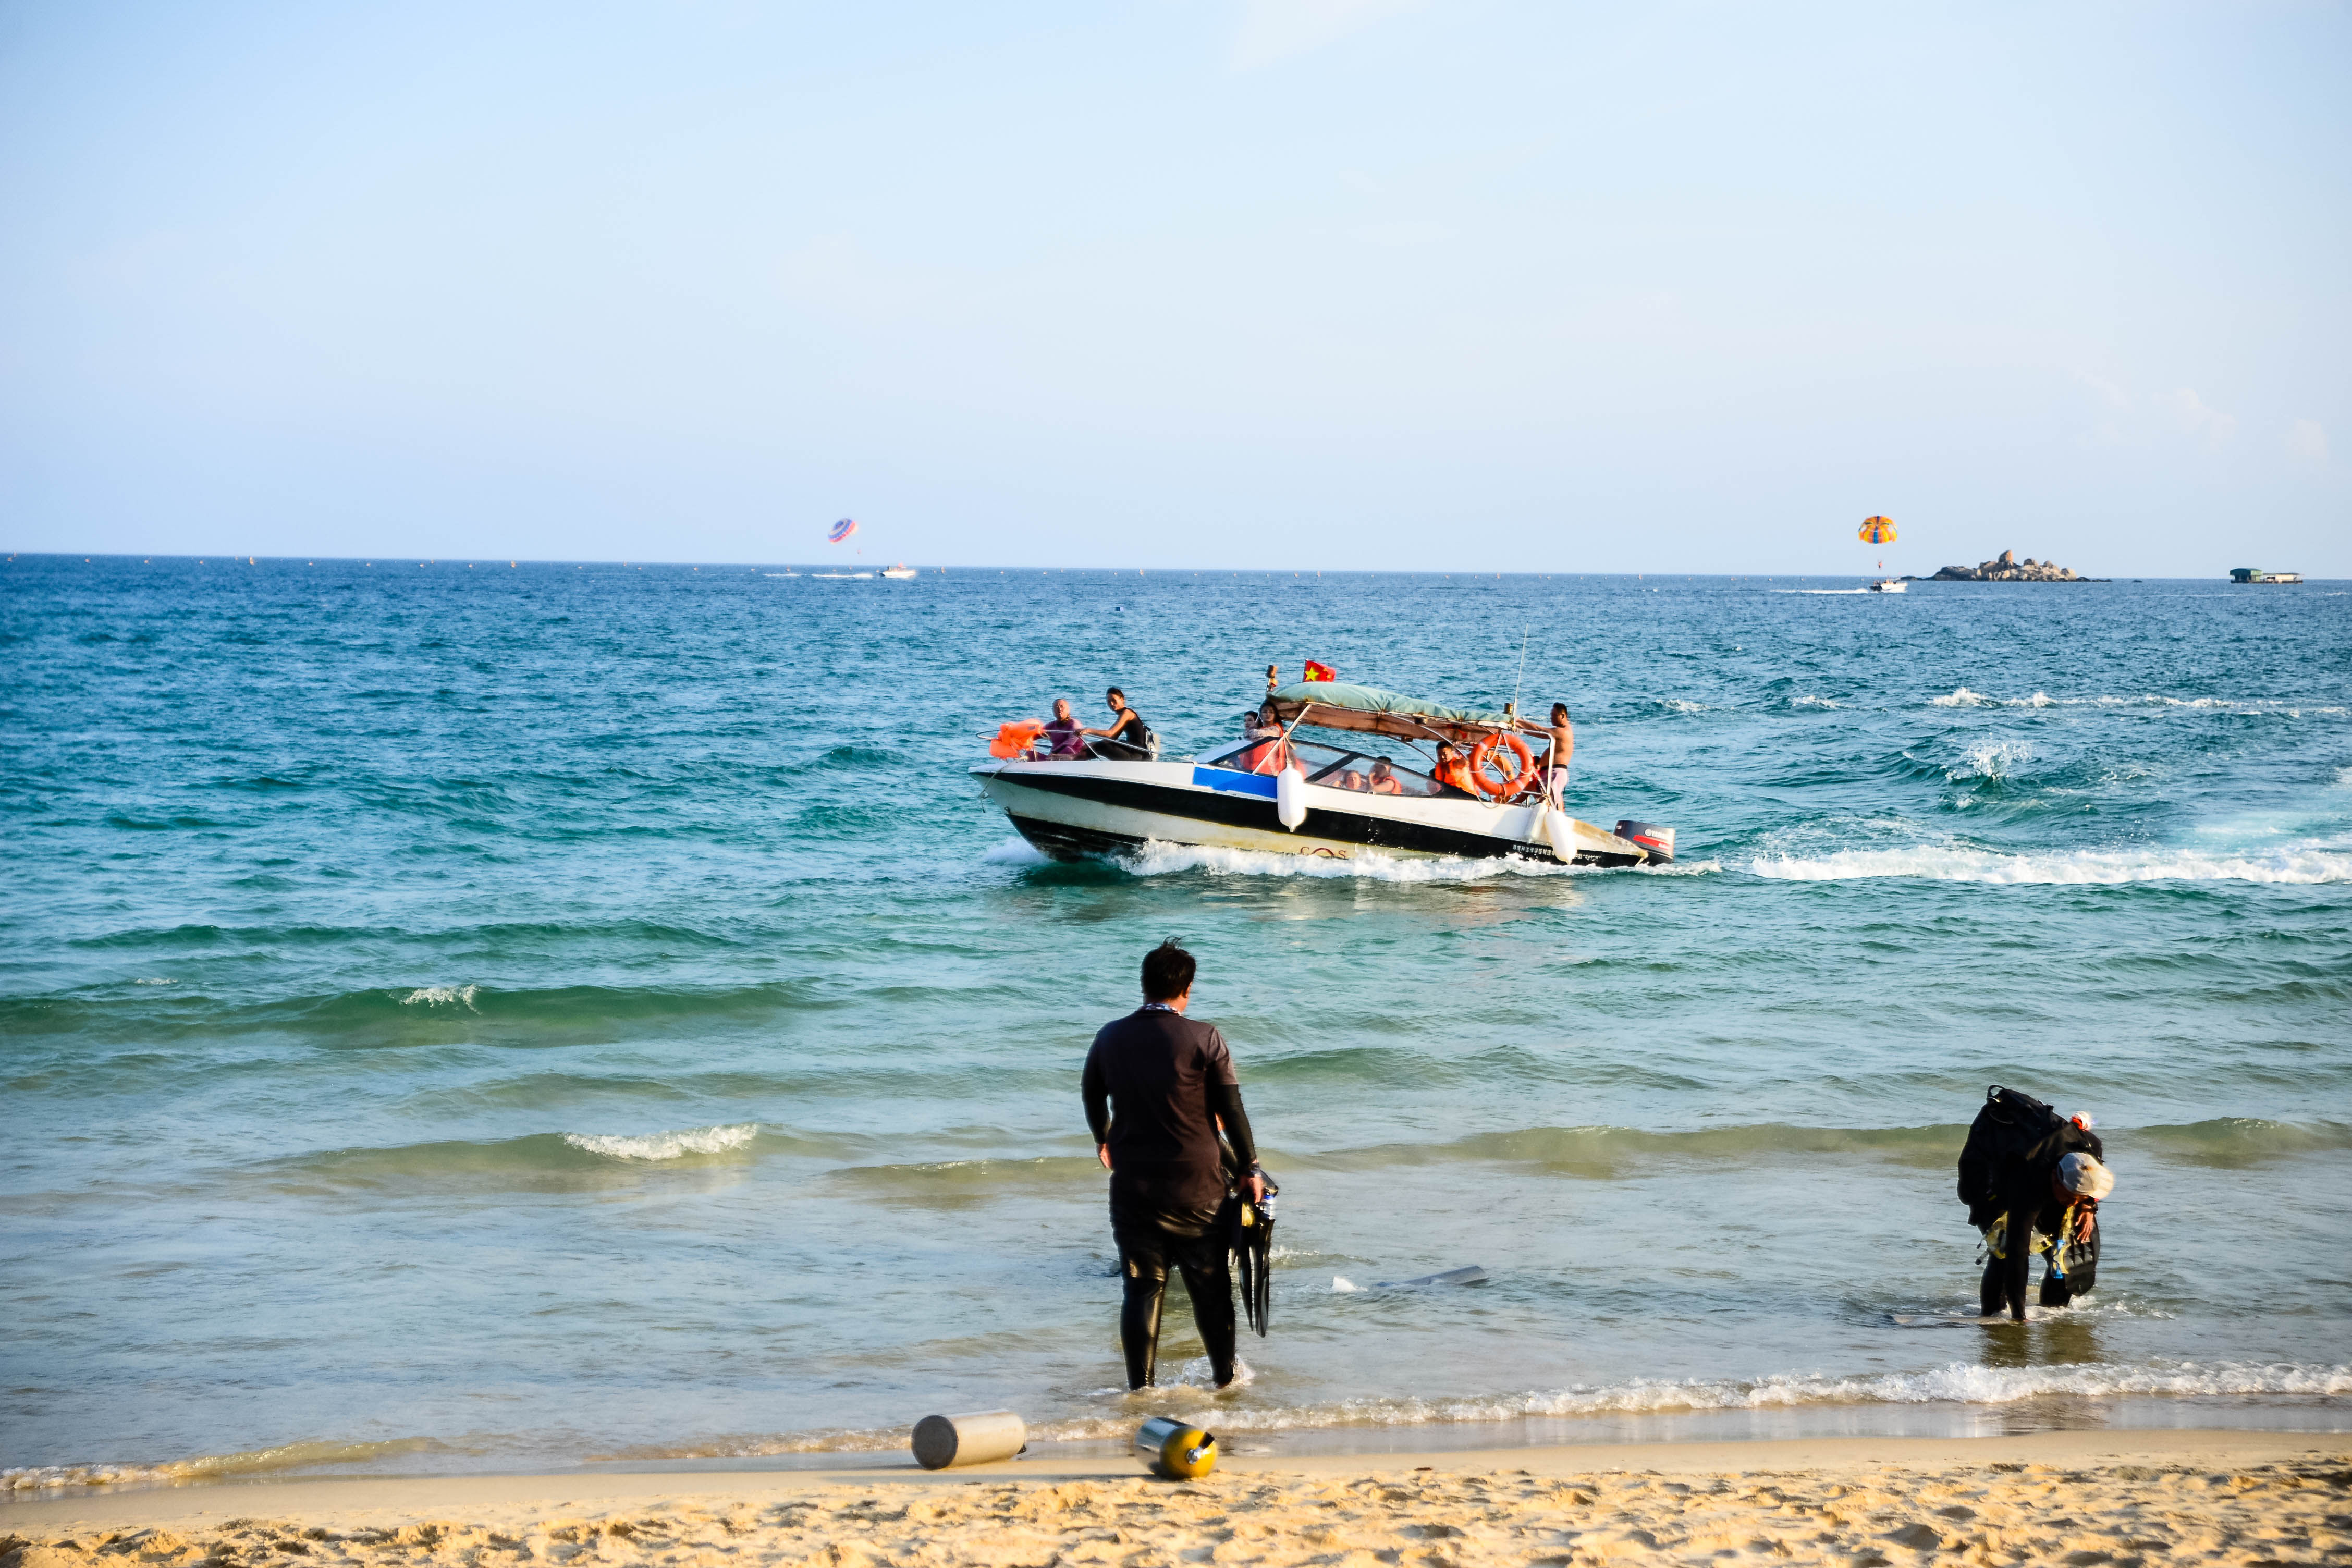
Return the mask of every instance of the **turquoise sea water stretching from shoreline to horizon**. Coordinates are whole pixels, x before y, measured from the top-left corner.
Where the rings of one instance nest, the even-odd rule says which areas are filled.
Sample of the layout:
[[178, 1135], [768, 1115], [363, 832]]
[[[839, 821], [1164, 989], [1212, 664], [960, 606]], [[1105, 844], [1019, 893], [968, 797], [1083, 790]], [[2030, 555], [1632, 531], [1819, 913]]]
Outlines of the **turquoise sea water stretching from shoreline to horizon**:
[[[976, 1406], [2345, 1422], [2345, 585], [779, 571], [0, 567], [19, 1488]], [[1112, 679], [1176, 755], [1268, 663], [1494, 705], [1522, 630], [1571, 809], [1679, 827], [1670, 872], [1047, 865], [967, 776]], [[1223, 1399], [1117, 1387], [1077, 1105], [1162, 936], [1284, 1182]], [[2100, 1291], [2023, 1328], [1943, 1321], [1994, 1081], [2119, 1175]]]

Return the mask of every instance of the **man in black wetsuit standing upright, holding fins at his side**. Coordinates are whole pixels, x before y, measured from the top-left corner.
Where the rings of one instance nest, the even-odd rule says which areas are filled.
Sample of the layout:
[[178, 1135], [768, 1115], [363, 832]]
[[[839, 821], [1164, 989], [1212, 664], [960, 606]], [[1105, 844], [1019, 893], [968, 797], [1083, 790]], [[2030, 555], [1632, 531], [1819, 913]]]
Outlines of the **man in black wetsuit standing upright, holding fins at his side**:
[[1183, 1272], [1216, 1387], [1232, 1382], [1232, 1272], [1225, 1267], [1225, 1166], [1218, 1126], [1242, 1161], [1242, 1185], [1265, 1197], [1258, 1145], [1242, 1114], [1232, 1053], [1216, 1025], [1183, 1016], [1192, 954], [1174, 940], [1143, 954], [1143, 1006], [1105, 1023], [1087, 1051], [1082, 1091], [1094, 1154], [1110, 1171], [1110, 1237], [1120, 1246], [1120, 1345], [1127, 1387], [1152, 1385], [1160, 1300], [1169, 1265]]

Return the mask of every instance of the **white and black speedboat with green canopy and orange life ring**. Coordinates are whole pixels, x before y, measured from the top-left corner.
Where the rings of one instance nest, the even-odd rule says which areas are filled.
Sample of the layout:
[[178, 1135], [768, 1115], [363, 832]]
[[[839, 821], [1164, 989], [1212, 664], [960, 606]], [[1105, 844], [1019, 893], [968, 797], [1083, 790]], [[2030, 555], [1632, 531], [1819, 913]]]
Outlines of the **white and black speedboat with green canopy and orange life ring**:
[[[1263, 726], [1268, 715], [1279, 729]], [[985, 762], [971, 773], [1030, 844], [1058, 860], [1122, 853], [1148, 842], [1216, 844], [1352, 860], [1385, 856], [1524, 856], [1573, 865], [1663, 865], [1675, 830], [1618, 823], [1616, 832], [1552, 809], [1531, 769], [1472, 792], [1432, 776], [1451, 743], [1526, 762], [1503, 712], [1439, 708], [1418, 698], [1303, 682], [1270, 691], [1251, 733], [1190, 762], [1157, 748], [1134, 759]], [[1505, 764], [1508, 766], [1508, 764]]]

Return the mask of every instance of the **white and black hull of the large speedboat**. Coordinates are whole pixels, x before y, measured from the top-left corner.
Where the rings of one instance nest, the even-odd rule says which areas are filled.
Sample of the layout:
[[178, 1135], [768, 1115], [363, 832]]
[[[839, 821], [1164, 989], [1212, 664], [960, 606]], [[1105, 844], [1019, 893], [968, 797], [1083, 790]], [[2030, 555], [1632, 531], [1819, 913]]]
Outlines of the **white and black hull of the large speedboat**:
[[[1261, 773], [1190, 762], [997, 762], [974, 776], [1023, 839], [1061, 860], [1148, 842], [1327, 860], [1359, 853], [1559, 860], [1538, 806], [1305, 785], [1308, 816], [1291, 832], [1275, 816], [1275, 780]], [[1592, 823], [1573, 823], [1571, 849], [1573, 865], [1649, 860], [1649, 851]]]

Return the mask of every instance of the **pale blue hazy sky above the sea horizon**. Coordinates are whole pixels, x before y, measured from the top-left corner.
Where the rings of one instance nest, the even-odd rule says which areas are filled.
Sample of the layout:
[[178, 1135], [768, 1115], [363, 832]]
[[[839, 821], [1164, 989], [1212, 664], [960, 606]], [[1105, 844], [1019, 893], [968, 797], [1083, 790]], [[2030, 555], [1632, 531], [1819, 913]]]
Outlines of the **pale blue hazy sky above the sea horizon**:
[[0, 548], [2352, 576], [2347, 132], [2345, 5], [0, 0]]

